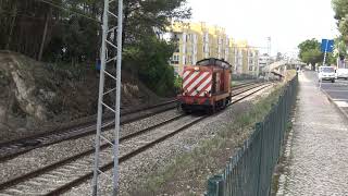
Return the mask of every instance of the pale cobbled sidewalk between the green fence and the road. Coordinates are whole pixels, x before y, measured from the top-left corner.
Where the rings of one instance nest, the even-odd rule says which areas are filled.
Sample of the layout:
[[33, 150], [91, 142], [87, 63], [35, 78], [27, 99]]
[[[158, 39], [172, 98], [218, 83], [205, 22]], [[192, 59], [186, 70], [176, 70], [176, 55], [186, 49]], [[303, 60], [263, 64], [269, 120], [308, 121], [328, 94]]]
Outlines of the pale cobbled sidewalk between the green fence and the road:
[[277, 195], [348, 195], [348, 122], [318, 89], [314, 74], [299, 75], [291, 149]]

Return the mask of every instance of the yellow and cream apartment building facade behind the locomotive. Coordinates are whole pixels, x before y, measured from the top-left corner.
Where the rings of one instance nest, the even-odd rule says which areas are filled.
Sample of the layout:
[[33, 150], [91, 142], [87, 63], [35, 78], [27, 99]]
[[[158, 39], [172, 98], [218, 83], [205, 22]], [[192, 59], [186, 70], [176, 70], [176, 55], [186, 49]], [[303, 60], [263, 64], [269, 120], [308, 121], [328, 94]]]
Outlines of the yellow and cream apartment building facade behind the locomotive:
[[206, 23], [173, 23], [169, 32], [171, 39], [177, 41], [171, 65], [178, 75], [183, 74], [185, 65], [207, 58], [224, 59], [234, 66], [236, 74], [256, 74], [258, 51], [247, 41], [229, 38], [223, 27]]

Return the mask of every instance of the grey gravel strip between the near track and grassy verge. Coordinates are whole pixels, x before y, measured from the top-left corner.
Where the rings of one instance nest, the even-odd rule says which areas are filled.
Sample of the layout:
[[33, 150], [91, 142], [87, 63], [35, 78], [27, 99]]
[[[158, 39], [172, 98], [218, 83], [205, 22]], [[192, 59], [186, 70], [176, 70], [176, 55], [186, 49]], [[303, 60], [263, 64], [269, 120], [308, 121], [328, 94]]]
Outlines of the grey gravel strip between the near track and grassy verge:
[[[248, 110], [252, 106], [252, 101], [256, 99], [268, 96], [272, 91], [272, 87], [268, 87], [260, 93], [254, 94], [250, 98], [236, 103], [225, 111], [208, 118], [195, 126], [191, 126], [184, 132], [176, 134], [175, 136], [156, 145], [151, 149], [141, 152], [140, 155], [123, 162], [120, 164], [120, 192], [121, 195], [139, 195], [135, 192], [135, 187], [142, 183], [147, 176], [151, 175], [153, 172], [165, 168], [166, 166], [173, 163], [175, 157], [183, 155], [184, 152], [192, 151], [201, 140], [213, 138], [220, 130], [226, 128], [226, 126], [236, 118], [238, 114]], [[236, 143], [239, 139], [244, 139], [244, 136], [236, 135]], [[111, 171], [107, 172], [111, 176]], [[100, 175], [100, 184], [103, 186], [101, 189], [101, 195], [108, 195], [111, 192], [112, 182]], [[182, 194], [195, 192], [202, 193], [203, 189], [196, 189], [195, 187], [189, 187], [183, 185], [183, 187], [176, 187], [182, 189]], [[91, 193], [91, 180], [71, 189], [64, 195], [83, 195]]]

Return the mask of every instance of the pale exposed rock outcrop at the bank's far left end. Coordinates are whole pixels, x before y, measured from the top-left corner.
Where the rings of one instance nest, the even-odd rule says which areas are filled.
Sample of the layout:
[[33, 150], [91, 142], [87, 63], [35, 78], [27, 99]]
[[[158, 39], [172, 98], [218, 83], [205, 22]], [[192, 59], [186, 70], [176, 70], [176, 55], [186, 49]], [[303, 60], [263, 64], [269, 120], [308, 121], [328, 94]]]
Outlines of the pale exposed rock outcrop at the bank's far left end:
[[[35, 63], [18, 54], [0, 52], [0, 126], [30, 126], [51, 115], [39, 97], [36, 76], [44, 73]], [[42, 89], [47, 94], [49, 89]]]

